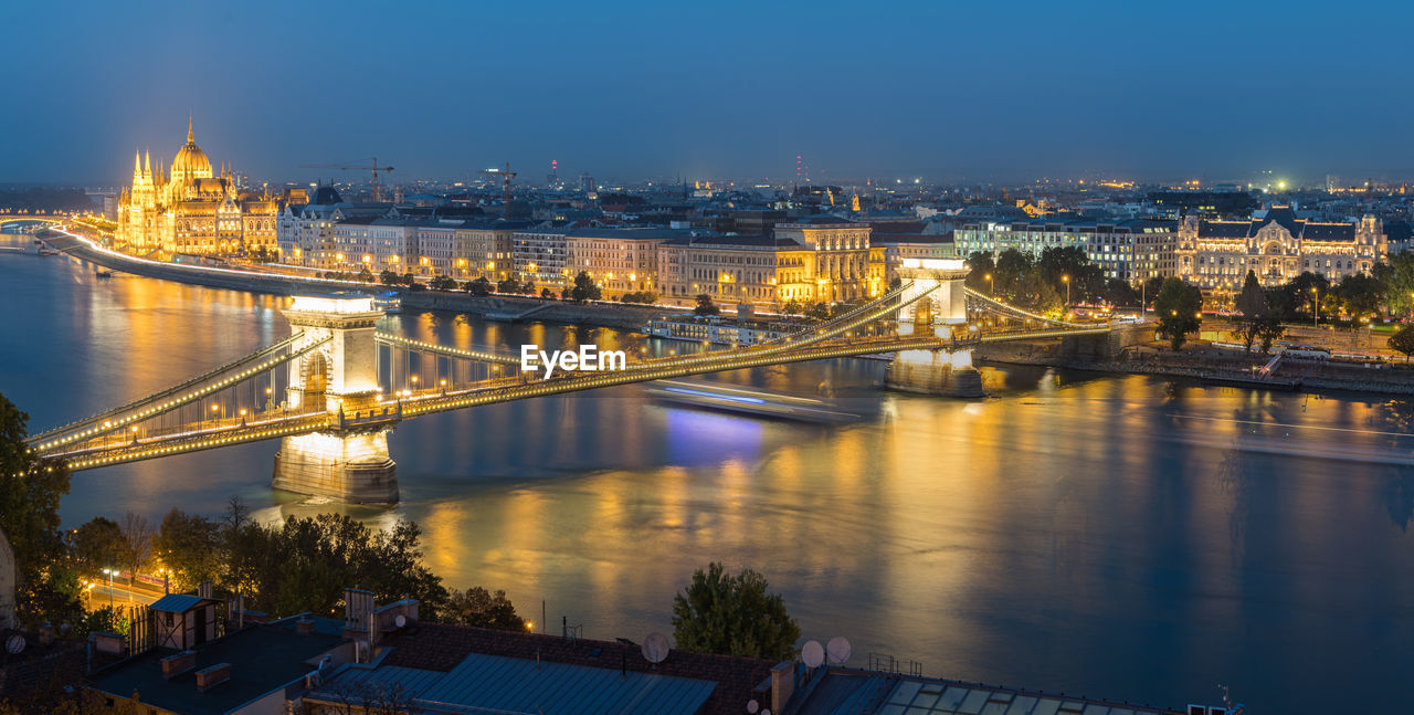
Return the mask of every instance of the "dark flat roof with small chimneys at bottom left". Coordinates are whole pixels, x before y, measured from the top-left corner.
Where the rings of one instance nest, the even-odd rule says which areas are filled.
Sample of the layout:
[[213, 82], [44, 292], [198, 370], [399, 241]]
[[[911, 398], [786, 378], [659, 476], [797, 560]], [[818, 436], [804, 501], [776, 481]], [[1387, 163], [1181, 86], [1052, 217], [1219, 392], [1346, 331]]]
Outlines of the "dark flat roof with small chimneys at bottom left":
[[[195, 668], [163, 678], [161, 658], [168, 650], [151, 650], [92, 678], [92, 687], [119, 698], [133, 692], [146, 705], [185, 715], [222, 715], [250, 701], [297, 682], [318, 665], [320, 657], [342, 643], [338, 636], [296, 633], [279, 624], [250, 626], [197, 650]], [[195, 671], [230, 664], [230, 680], [197, 690]]]

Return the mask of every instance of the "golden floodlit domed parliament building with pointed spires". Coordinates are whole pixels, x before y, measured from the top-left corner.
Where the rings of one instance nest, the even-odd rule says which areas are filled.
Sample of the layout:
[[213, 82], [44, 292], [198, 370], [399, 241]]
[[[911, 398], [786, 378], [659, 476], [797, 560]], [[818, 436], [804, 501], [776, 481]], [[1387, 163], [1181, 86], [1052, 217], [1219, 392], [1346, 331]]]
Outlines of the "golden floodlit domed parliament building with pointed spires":
[[279, 201], [239, 191], [235, 174], [221, 173], [197, 146], [191, 122], [187, 143], [171, 168], [153, 168], [151, 153], [133, 156], [133, 185], [117, 208], [117, 242], [137, 253], [274, 255]]

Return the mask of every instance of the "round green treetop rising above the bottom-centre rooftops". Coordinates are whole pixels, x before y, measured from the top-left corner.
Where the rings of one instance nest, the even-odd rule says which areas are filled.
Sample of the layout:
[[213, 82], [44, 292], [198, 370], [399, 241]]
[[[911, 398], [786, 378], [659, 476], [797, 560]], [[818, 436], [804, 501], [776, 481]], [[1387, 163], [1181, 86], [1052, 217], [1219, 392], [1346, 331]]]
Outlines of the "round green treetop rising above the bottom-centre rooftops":
[[691, 583], [673, 597], [677, 647], [754, 658], [789, 658], [800, 626], [786, 613], [779, 593], [766, 593], [766, 579], [752, 569], [735, 576], [721, 564], [693, 572]]

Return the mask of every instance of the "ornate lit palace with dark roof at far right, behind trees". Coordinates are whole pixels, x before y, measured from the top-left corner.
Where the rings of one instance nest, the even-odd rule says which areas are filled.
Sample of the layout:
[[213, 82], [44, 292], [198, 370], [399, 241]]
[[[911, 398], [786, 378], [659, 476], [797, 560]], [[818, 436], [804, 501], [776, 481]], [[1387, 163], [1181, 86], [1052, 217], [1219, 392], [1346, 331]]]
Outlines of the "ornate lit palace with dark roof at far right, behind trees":
[[1247, 272], [1275, 286], [1309, 270], [1329, 280], [1366, 273], [1384, 261], [1389, 241], [1379, 218], [1322, 224], [1274, 205], [1251, 221], [1186, 217], [1178, 229], [1178, 276], [1203, 289], [1240, 290]]

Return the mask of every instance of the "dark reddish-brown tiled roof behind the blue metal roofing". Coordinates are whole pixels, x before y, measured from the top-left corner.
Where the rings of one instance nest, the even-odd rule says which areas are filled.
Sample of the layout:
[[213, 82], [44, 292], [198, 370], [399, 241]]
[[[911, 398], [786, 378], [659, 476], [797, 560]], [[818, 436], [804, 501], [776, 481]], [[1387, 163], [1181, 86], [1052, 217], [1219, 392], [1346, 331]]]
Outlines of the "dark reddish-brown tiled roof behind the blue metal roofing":
[[[585, 670], [607, 670], [612, 680], [619, 680], [622, 671], [707, 681], [713, 684], [713, 690], [703, 701], [701, 712], [745, 712], [747, 702], [752, 699], [754, 688], [771, 677], [771, 667], [775, 665], [775, 661], [771, 660], [682, 650], [670, 651], [667, 660], [652, 665], [643, 660], [639, 647], [632, 644], [441, 623], [417, 623], [406, 633], [390, 637], [385, 646], [392, 646], [393, 651], [383, 660], [383, 665], [441, 673], [451, 673], [468, 656], [481, 654], [529, 661], [532, 667], [536, 661], [542, 661], [578, 665]], [[571, 673], [583, 677], [602, 677], [602, 674], [566, 671], [566, 674]], [[686, 688], [686, 685], [683, 687]], [[534, 711], [532, 709], [532, 712]], [[546, 712], [553, 711], [546, 709]], [[655, 712], [655, 709], [649, 708], [642, 712]]]

